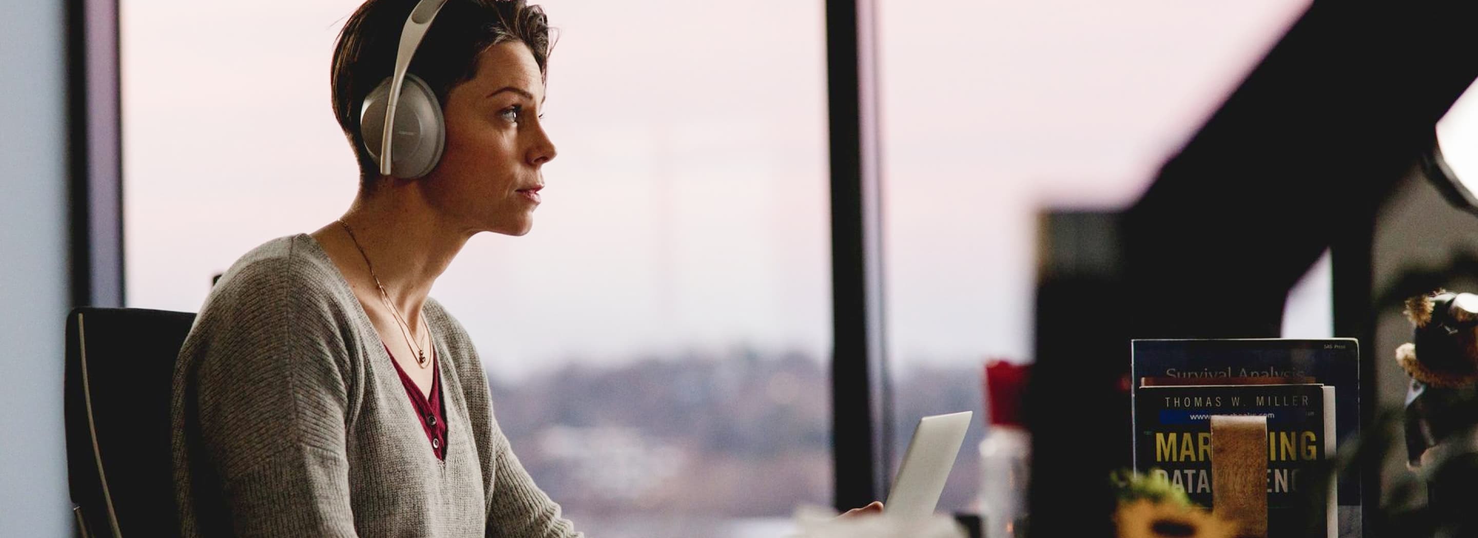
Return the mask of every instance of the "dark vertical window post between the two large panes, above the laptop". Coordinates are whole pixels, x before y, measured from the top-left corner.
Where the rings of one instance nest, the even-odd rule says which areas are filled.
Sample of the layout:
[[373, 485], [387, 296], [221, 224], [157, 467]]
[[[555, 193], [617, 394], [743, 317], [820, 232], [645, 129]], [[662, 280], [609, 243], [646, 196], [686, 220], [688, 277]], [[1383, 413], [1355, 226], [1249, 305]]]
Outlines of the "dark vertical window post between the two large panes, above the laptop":
[[881, 500], [893, 461], [882, 304], [882, 182], [871, 0], [826, 0], [835, 508]]

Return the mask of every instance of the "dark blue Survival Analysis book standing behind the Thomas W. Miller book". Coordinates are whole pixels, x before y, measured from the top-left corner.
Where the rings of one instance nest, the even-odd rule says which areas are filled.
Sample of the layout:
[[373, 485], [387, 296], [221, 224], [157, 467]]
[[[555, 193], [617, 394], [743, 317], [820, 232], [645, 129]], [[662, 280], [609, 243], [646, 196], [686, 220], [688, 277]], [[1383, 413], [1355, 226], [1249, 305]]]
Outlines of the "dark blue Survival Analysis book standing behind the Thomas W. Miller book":
[[[1355, 338], [1134, 340], [1129, 346], [1131, 409], [1144, 378], [1213, 384], [1247, 383], [1233, 378], [1296, 378], [1299, 383], [1335, 387], [1336, 443], [1349, 442], [1360, 433], [1363, 404], [1360, 343]], [[1360, 537], [1361, 498], [1358, 477], [1341, 477], [1341, 537]]]

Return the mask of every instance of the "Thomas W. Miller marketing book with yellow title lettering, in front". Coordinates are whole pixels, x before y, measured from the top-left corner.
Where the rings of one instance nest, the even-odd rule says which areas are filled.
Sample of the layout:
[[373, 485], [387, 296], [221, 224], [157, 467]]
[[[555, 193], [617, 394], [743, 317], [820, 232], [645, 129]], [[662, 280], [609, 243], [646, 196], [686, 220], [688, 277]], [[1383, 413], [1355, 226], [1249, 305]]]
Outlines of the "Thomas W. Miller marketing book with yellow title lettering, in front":
[[1135, 470], [1174, 483], [1196, 504], [1212, 500], [1213, 415], [1267, 417], [1268, 537], [1335, 537], [1338, 505], [1310, 504], [1335, 448], [1335, 387], [1321, 384], [1142, 386], [1135, 402]]

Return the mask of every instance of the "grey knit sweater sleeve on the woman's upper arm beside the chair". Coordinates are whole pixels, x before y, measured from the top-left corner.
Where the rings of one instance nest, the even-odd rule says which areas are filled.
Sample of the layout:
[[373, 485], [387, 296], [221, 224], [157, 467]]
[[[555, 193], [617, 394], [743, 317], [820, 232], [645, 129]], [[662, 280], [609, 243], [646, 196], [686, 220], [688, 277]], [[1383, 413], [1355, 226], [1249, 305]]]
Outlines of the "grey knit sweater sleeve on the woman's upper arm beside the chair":
[[[202, 464], [236, 537], [355, 537], [346, 457], [350, 362], [327, 300], [263, 260], [213, 299], [183, 358]], [[225, 528], [228, 522], [217, 522]]]

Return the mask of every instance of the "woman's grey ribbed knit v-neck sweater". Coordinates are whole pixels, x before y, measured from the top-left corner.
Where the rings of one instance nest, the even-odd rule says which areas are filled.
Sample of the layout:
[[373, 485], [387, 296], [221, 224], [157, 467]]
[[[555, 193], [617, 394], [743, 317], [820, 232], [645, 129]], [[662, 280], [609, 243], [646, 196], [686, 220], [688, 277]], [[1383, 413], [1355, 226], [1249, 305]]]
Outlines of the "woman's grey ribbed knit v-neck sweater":
[[174, 367], [183, 537], [579, 538], [492, 412], [467, 331], [433, 299], [445, 460], [378, 333], [306, 234], [226, 270]]

